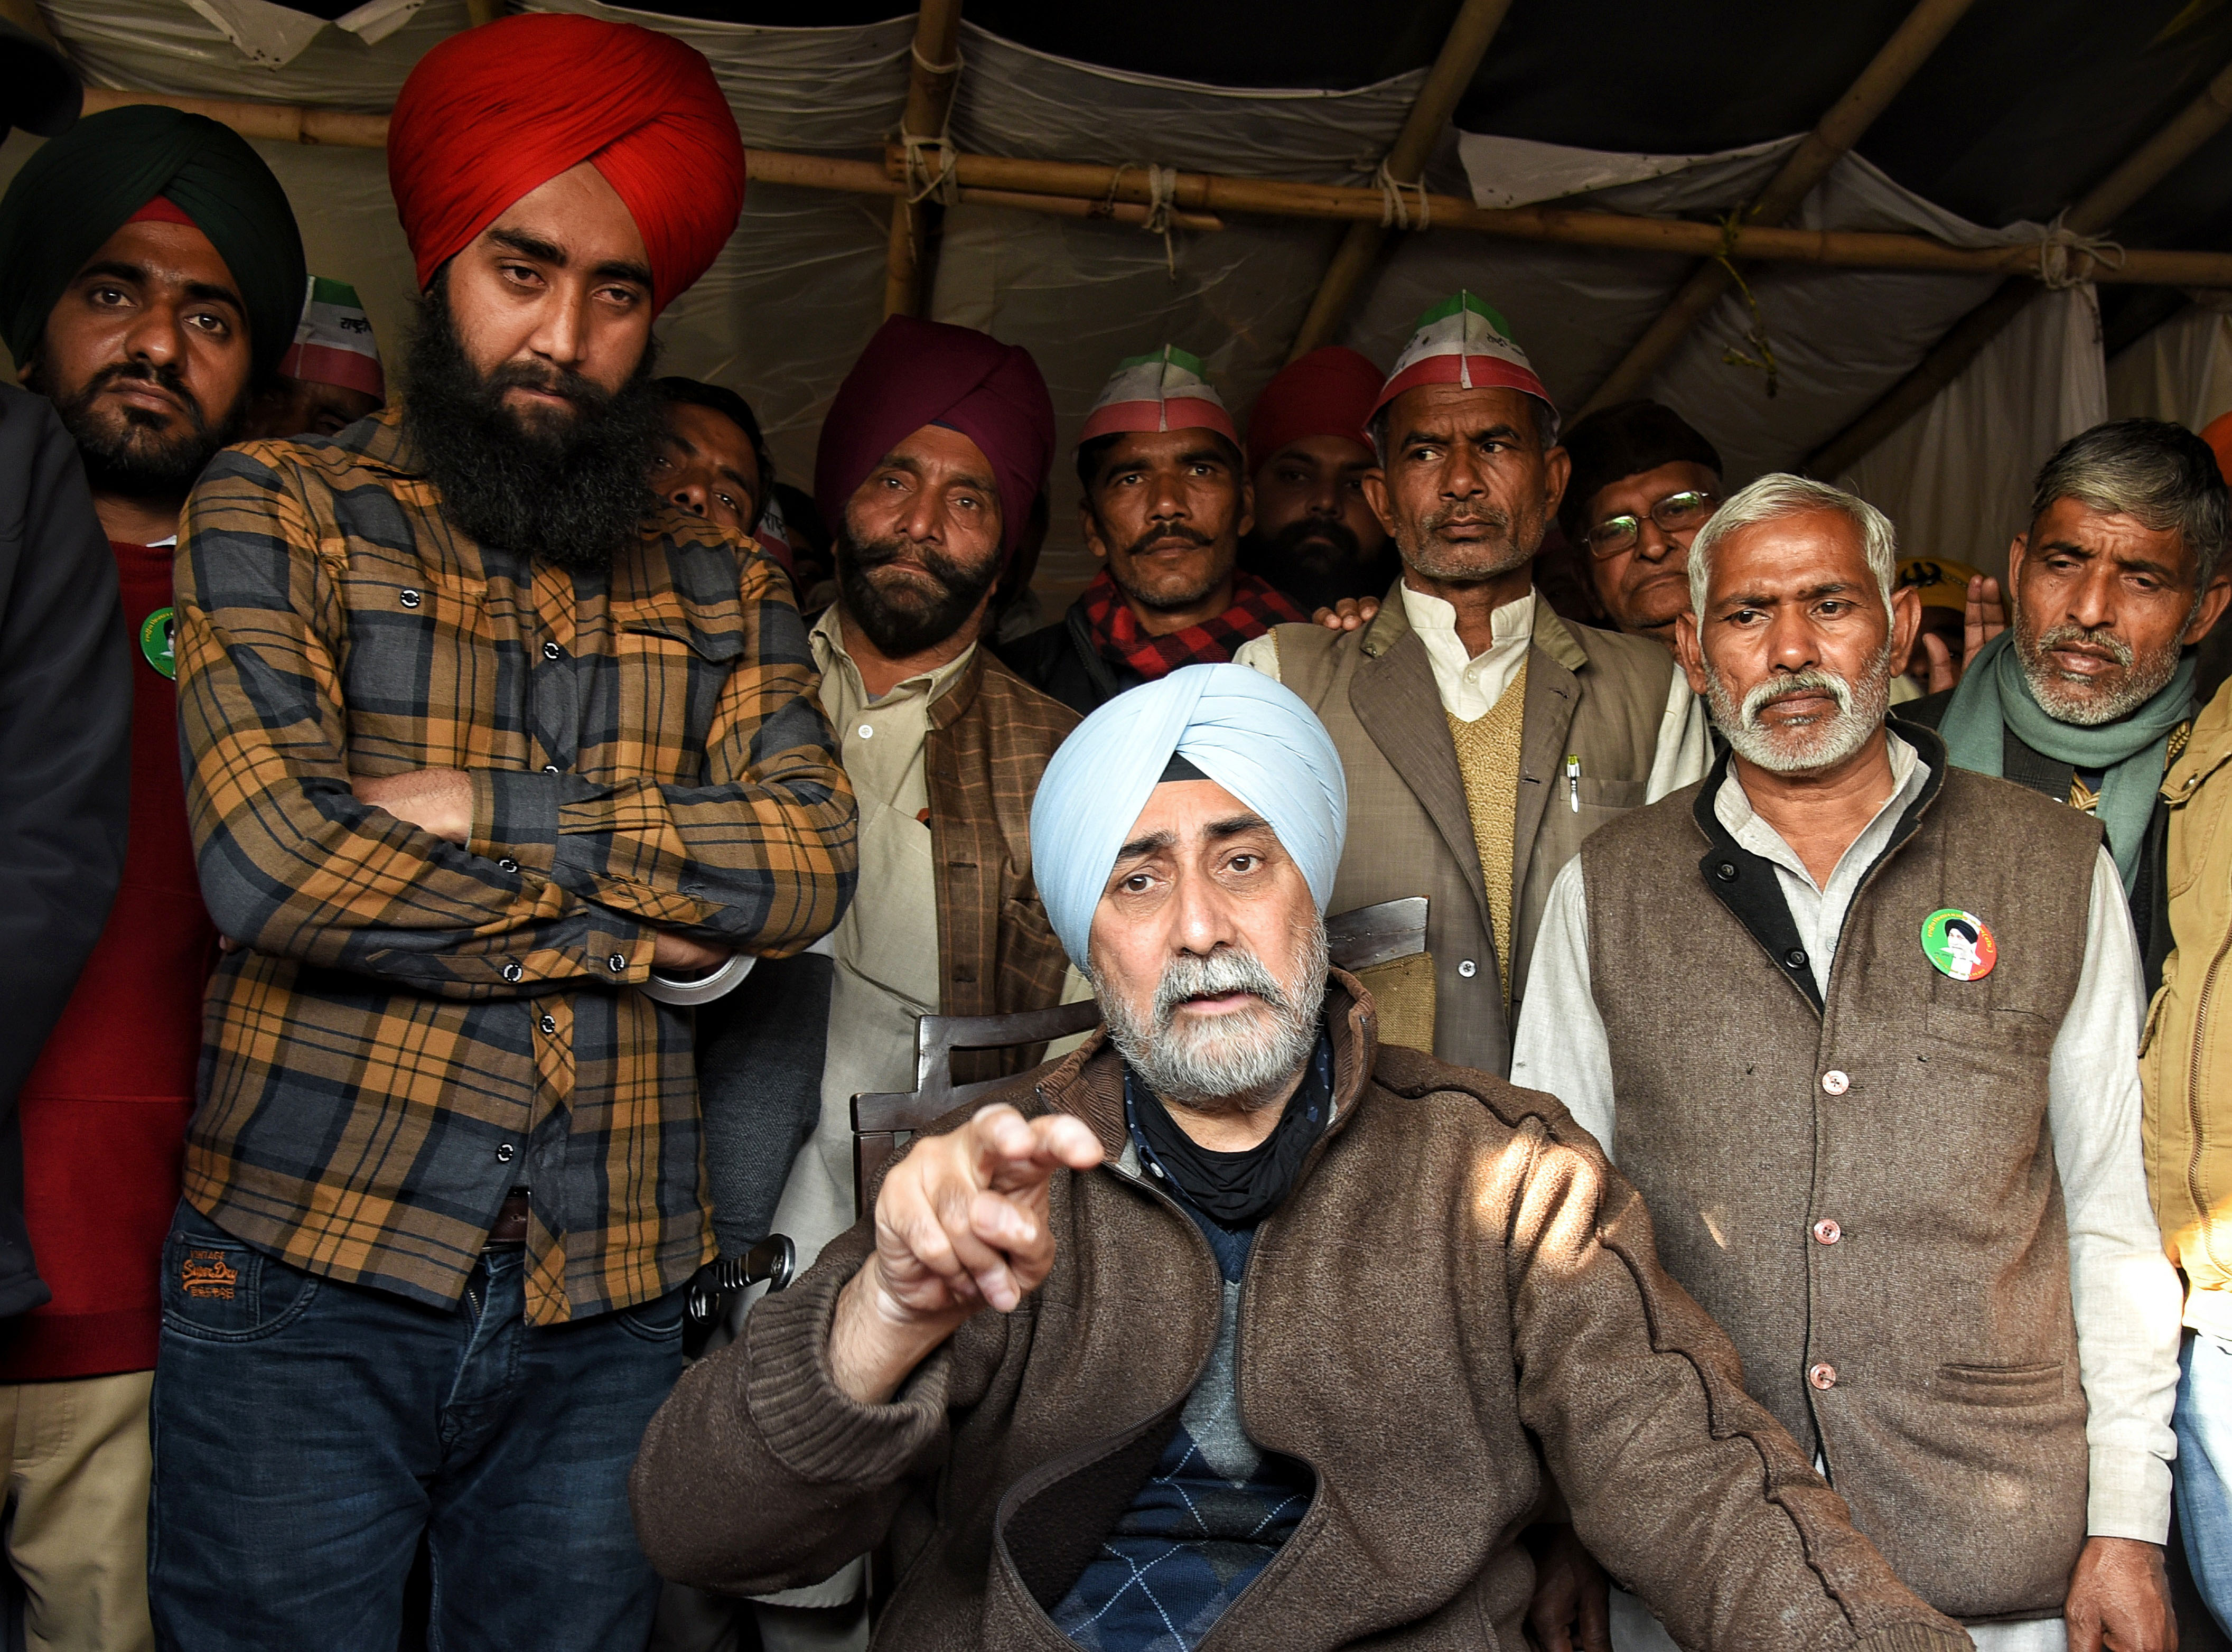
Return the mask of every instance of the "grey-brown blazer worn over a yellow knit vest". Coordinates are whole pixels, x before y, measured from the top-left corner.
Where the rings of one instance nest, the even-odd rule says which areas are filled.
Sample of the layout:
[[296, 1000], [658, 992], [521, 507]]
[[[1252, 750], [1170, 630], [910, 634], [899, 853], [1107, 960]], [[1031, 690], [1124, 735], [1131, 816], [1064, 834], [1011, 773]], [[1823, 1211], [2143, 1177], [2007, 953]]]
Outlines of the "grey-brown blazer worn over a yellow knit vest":
[[[1638, 636], [1567, 625], [1549, 603], [1536, 607], [1511, 833], [1518, 922], [1507, 1020], [1464, 775], [1433, 663], [1404, 605], [1391, 596], [1379, 618], [1355, 632], [1279, 625], [1272, 636], [1279, 681], [1326, 723], [1348, 775], [1348, 848], [1326, 911], [1426, 895], [1433, 1054], [1509, 1074], [1511, 1027], [1549, 886], [1591, 830], [1647, 801], [1674, 656]], [[1580, 757], [1571, 786], [1569, 752]]]

